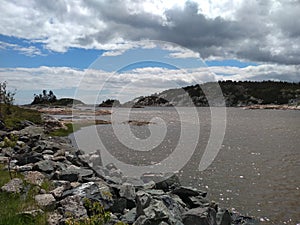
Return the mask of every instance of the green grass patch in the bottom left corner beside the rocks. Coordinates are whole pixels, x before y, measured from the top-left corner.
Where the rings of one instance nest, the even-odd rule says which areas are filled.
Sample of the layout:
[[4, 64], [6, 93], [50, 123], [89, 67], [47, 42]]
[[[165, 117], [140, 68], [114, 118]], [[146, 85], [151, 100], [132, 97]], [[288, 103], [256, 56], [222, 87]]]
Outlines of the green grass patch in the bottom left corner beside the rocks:
[[[21, 174], [14, 174], [14, 177], [23, 178]], [[0, 165], [0, 187], [10, 180], [9, 173]], [[9, 194], [0, 191], [0, 225], [34, 225], [47, 224], [46, 214], [35, 218], [19, 213], [26, 210], [37, 209], [34, 196], [38, 194], [38, 188], [25, 183], [28, 188], [26, 194]]]

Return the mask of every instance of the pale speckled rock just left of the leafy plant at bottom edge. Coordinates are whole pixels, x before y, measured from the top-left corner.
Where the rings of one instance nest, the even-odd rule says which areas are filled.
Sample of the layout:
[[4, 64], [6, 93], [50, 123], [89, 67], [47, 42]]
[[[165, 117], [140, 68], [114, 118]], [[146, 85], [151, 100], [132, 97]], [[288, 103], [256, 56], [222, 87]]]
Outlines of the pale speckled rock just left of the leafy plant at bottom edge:
[[68, 215], [73, 218], [86, 218], [87, 211], [83, 206], [83, 202], [81, 201], [81, 197], [74, 195], [68, 196], [65, 199], [60, 201], [62, 206], [62, 211], [64, 215]]

